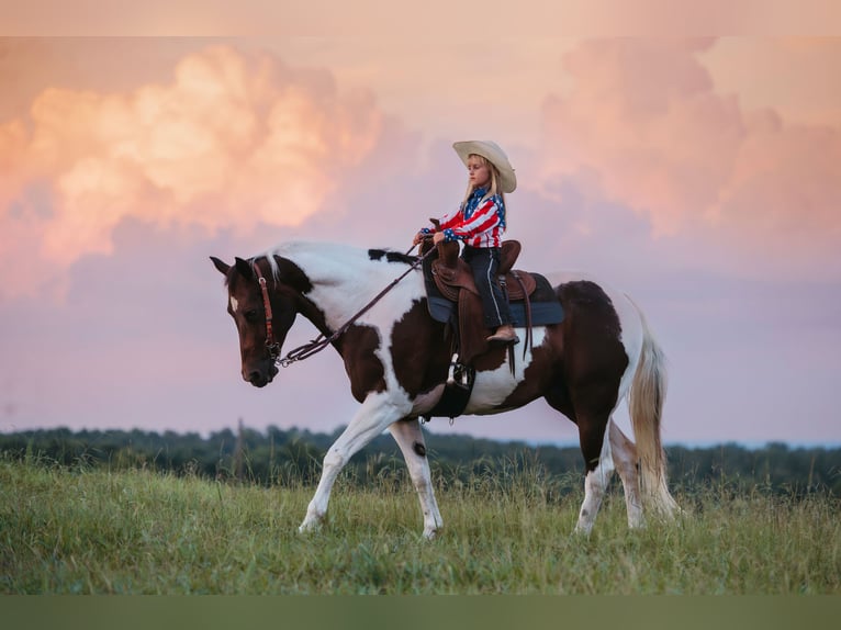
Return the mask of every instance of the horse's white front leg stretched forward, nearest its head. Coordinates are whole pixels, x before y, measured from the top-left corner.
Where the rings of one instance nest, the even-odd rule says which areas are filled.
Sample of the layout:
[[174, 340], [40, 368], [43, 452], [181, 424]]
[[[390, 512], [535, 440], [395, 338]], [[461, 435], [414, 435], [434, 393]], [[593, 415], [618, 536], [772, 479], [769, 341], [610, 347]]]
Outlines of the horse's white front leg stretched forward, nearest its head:
[[311, 531], [318, 527], [327, 514], [333, 484], [345, 464], [355, 453], [385, 430], [385, 427], [404, 417], [410, 409], [408, 403], [401, 404], [391, 400], [388, 392], [368, 395], [350, 424], [324, 455], [322, 479], [306, 508], [306, 517], [299, 527], [299, 531]]

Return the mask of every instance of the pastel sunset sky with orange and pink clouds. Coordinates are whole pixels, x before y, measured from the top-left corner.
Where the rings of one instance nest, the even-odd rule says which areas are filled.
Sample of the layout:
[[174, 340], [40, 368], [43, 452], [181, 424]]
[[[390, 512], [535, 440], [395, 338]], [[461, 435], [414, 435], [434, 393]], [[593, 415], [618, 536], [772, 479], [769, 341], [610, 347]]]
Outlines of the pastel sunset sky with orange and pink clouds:
[[[209, 257], [405, 251], [493, 139], [518, 267], [646, 312], [666, 443], [841, 443], [840, 74], [831, 36], [0, 38], [0, 431], [347, 424], [333, 351], [242, 380]], [[427, 428], [576, 441], [541, 401]]]

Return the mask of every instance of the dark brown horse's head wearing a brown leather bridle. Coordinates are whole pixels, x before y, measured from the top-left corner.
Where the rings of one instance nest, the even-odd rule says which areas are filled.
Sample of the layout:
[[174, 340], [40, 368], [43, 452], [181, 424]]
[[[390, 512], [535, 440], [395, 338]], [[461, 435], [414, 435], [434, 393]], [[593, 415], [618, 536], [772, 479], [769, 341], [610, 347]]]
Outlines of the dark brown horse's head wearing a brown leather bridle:
[[[294, 291], [271, 273], [266, 260], [262, 271], [254, 266], [254, 261], [242, 258], [234, 265], [214, 257], [211, 260], [226, 278], [227, 312], [239, 333], [243, 379], [262, 387], [278, 373], [276, 359], [295, 320]], [[263, 273], [266, 278], [262, 278]]]

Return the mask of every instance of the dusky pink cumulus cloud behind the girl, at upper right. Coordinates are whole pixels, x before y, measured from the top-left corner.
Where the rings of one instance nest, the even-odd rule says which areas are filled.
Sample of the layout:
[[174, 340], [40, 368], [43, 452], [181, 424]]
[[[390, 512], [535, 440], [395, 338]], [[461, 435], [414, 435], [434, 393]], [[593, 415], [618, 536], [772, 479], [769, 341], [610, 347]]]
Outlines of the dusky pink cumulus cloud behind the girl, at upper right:
[[817, 248], [841, 271], [839, 130], [719, 93], [702, 63], [714, 45], [618, 38], [568, 54], [574, 87], [543, 104], [542, 181], [590, 181], [655, 236], [704, 236], [785, 265], [812, 263]]

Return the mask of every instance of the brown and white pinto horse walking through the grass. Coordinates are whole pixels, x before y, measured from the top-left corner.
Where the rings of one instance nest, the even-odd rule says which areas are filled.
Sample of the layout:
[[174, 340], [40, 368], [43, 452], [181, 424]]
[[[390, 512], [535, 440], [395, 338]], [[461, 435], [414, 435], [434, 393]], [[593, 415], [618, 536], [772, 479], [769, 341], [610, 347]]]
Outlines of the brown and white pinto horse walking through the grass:
[[[350, 391], [361, 403], [324, 457], [300, 530], [321, 524], [343, 466], [388, 429], [420, 499], [424, 536], [434, 538], [444, 521], [419, 418], [441, 398], [451, 347], [447, 325], [428, 313], [423, 272], [408, 267], [413, 259], [345, 245], [290, 243], [231, 266], [211, 260], [226, 278], [243, 379], [257, 387], [273, 380], [279, 347], [300, 314], [339, 353]], [[405, 279], [371, 305], [371, 297], [400, 272]], [[516, 352], [514, 364], [514, 353], [505, 348], [478, 358], [464, 413], [497, 414], [543, 397], [578, 425], [586, 474], [576, 531], [592, 529], [614, 470], [625, 488], [629, 527], [643, 525], [643, 506], [673, 516], [677, 506], [668, 490], [660, 437], [664, 358], [644, 315], [627, 295], [581, 277], [563, 278], [554, 293], [563, 320], [536, 327], [531, 345]], [[518, 333], [525, 337], [525, 330]], [[612, 418], [626, 395], [636, 445]]]

